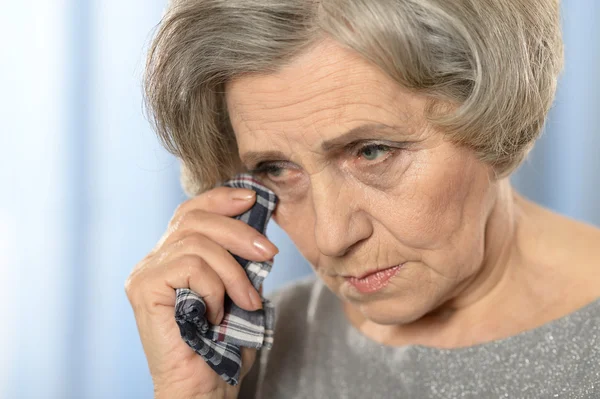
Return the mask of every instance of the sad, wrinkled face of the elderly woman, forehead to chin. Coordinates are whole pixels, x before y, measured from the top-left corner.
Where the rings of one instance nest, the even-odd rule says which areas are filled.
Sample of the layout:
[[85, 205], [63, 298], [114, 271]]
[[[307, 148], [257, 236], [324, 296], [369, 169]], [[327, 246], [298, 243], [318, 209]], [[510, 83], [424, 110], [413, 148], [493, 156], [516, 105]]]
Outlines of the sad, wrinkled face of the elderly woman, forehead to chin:
[[[491, 172], [428, 126], [425, 98], [329, 40], [226, 93], [242, 161], [279, 197], [274, 220], [364, 317], [409, 323], [479, 271]], [[395, 265], [374, 292], [349, 282]]]

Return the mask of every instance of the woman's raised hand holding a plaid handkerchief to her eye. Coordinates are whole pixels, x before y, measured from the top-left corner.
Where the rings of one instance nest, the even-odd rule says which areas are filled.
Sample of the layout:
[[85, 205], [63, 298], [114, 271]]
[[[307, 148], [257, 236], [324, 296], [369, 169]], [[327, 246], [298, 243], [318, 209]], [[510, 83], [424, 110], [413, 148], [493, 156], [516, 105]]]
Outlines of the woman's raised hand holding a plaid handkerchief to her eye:
[[[267, 238], [233, 219], [256, 201], [247, 189], [219, 187], [181, 204], [165, 234], [125, 283], [154, 383], [155, 398], [235, 398], [239, 386], [221, 379], [181, 338], [175, 322], [175, 289], [190, 288], [206, 302], [207, 319], [219, 324], [227, 293], [241, 308], [262, 304], [232, 253], [253, 261], [278, 251]], [[256, 350], [242, 348], [240, 382]]]

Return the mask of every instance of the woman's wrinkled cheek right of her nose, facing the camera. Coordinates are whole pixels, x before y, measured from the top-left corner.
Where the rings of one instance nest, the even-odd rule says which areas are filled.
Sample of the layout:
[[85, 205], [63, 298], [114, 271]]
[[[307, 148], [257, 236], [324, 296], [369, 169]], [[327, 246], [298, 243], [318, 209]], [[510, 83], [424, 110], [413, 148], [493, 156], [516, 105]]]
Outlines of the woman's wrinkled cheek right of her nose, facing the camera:
[[484, 202], [478, 182], [481, 173], [469, 164], [415, 165], [416, 172], [407, 171], [394, 190], [393, 199], [390, 201], [388, 196], [374, 212], [407, 247], [431, 251], [466, 249], [465, 244], [470, 243], [463, 241], [475, 238]]

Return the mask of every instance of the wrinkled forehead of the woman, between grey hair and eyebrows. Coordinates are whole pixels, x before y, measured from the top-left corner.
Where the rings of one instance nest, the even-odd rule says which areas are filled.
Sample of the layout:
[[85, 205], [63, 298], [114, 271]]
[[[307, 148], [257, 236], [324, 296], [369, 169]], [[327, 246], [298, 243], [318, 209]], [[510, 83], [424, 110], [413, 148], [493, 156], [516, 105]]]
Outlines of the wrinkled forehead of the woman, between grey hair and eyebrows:
[[226, 97], [240, 153], [310, 148], [366, 123], [409, 130], [423, 121], [425, 104], [335, 42], [315, 46], [277, 73], [232, 80]]

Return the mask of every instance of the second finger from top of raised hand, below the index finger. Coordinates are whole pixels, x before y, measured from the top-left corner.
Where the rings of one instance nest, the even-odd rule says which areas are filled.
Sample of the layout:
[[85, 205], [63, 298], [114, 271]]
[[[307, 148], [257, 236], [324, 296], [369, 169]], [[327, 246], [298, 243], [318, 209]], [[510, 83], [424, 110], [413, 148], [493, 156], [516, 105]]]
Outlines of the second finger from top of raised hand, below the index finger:
[[209, 237], [232, 253], [256, 262], [269, 260], [279, 252], [267, 237], [241, 220], [199, 209], [185, 215], [177, 230], [164, 240], [161, 248], [193, 233]]

